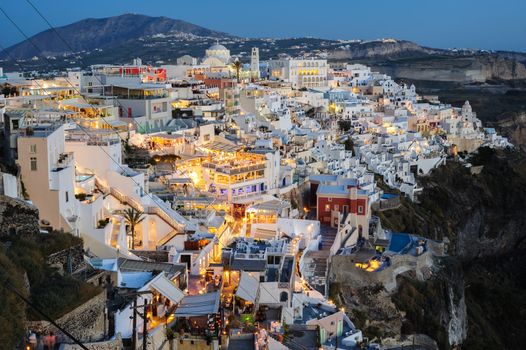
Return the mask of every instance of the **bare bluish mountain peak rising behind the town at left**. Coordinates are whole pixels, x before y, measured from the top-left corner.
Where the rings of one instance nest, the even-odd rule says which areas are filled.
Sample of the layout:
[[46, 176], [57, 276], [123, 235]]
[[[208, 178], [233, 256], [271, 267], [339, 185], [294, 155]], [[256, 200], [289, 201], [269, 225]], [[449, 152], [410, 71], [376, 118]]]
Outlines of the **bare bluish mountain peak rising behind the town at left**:
[[[59, 56], [64, 53], [90, 51], [116, 47], [144, 36], [179, 35], [212, 38], [231, 37], [226, 33], [213, 31], [178, 19], [149, 17], [137, 14], [124, 14], [109, 18], [88, 18], [55, 30], [40, 32], [5, 51], [11, 58], [29, 59], [34, 56]], [[66, 41], [68, 45], [64, 43]], [[38, 47], [31, 43], [35, 43]], [[2, 57], [7, 56], [2, 52]]]

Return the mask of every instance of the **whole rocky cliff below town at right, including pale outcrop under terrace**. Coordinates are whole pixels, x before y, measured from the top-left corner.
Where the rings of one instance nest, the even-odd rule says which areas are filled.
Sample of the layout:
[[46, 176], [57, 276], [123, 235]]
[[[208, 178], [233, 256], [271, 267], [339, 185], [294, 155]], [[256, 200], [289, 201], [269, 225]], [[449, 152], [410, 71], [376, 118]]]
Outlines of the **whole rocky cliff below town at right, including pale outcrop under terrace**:
[[443, 240], [446, 254], [433, 254], [433, 264], [365, 275], [348, 257], [333, 259], [331, 298], [370, 339], [411, 345], [414, 337], [433, 348], [431, 338], [440, 349], [521, 349], [526, 341], [526, 158], [483, 148], [471, 162], [477, 175], [451, 160], [420, 178], [419, 203], [402, 199], [376, 213], [388, 229]]

